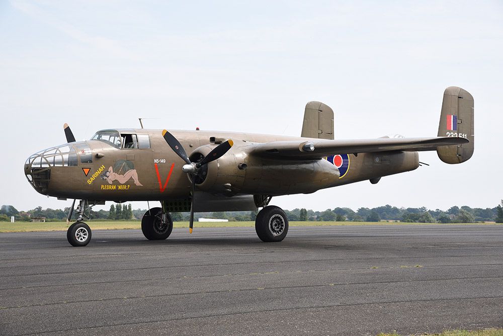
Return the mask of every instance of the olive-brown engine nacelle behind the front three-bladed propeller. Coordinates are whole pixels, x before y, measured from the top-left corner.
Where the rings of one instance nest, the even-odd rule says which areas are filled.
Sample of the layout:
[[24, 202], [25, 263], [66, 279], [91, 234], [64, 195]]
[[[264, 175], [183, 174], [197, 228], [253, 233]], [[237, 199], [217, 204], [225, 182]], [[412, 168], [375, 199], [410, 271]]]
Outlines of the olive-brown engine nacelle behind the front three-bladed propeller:
[[[198, 189], [232, 196], [235, 194], [284, 195], [313, 193], [339, 180], [339, 170], [324, 159], [276, 160], [248, 155], [255, 144], [232, 147], [225, 155], [208, 163], [196, 177]], [[214, 145], [197, 148], [193, 162], [206, 156]]]

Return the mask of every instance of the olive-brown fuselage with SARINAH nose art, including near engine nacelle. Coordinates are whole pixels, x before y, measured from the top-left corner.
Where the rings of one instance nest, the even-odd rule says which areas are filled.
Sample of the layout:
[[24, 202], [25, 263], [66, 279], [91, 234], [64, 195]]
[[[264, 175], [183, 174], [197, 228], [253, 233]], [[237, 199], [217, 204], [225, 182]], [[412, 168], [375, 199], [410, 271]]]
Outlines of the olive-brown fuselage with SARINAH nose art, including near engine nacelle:
[[[61, 199], [94, 201], [162, 201], [191, 196], [189, 177], [182, 171], [185, 162], [166, 144], [161, 130], [103, 132], [107, 131], [120, 134], [120, 143], [98, 139], [71, 142], [32, 155], [24, 170], [34, 188]], [[419, 164], [418, 153], [407, 151], [275, 159], [248, 153], [259, 143], [309, 138], [199, 130], [170, 132], [191, 157], [206, 155], [215, 143], [233, 140], [234, 146], [208, 164], [206, 179], [196, 185], [198, 190], [229, 197], [229, 202], [236, 195], [312, 193], [364, 180], [375, 181], [414, 170]]]

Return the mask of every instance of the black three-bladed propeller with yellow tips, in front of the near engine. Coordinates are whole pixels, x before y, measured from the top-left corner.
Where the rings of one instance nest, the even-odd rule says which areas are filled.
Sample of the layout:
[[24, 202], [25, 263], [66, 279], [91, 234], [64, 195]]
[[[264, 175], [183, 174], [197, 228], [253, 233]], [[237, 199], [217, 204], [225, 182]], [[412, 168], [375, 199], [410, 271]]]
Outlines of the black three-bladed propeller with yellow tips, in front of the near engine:
[[163, 130], [162, 136], [164, 137], [164, 140], [166, 140], [167, 144], [170, 145], [171, 149], [173, 149], [173, 151], [187, 163], [182, 167], [182, 171], [191, 176], [190, 180], [192, 183], [192, 201], [190, 205], [189, 232], [192, 233], [192, 228], [194, 226], [194, 193], [196, 192], [196, 176], [201, 170], [201, 167], [224, 155], [234, 145], [234, 142], [230, 139], [222, 142], [221, 144], [213, 148], [208, 153], [208, 155], [203, 157], [201, 161], [191, 162], [184, 147], [182, 146], [180, 141], [178, 141], [178, 139], [173, 136], [173, 134], [166, 130]]

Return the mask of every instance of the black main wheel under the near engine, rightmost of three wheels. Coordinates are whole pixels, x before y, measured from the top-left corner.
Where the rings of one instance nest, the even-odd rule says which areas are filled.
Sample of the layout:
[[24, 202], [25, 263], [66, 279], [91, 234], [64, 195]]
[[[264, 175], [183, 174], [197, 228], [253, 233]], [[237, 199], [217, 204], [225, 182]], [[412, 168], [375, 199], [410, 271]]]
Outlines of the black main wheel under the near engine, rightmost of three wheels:
[[285, 211], [275, 205], [265, 207], [255, 219], [255, 231], [265, 242], [285, 239], [288, 233], [288, 218]]

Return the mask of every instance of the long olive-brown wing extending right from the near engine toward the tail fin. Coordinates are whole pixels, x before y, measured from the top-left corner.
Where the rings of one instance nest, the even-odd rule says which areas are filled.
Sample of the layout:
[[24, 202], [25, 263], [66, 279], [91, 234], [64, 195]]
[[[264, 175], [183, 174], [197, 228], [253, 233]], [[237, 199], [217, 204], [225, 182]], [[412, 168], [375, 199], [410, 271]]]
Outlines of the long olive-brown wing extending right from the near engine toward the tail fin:
[[250, 154], [315, 159], [343, 153], [437, 150], [437, 147], [461, 145], [468, 142], [468, 139], [457, 137], [273, 141], [258, 144]]

